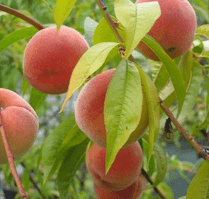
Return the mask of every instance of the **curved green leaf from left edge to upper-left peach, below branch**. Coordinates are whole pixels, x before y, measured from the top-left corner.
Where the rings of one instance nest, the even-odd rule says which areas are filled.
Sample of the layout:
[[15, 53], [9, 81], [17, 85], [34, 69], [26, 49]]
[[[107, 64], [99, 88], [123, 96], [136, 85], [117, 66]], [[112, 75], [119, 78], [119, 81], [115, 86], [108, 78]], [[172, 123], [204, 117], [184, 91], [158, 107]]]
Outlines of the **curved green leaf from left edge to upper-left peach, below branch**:
[[26, 27], [8, 34], [4, 39], [0, 41], [0, 52], [10, 44], [13, 44], [21, 39], [31, 37], [37, 32], [38, 30], [35, 27]]

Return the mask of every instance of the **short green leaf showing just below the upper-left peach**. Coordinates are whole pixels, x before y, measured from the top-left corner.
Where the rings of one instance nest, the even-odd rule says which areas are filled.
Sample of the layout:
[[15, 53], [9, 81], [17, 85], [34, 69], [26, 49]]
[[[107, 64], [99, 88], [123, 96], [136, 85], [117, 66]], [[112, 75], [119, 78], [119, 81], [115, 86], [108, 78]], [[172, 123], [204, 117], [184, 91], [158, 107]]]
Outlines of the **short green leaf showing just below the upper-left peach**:
[[37, 91], [35, 88], [31, 89], [29, 104], [36, 111], [46, 100], [47, 94]]

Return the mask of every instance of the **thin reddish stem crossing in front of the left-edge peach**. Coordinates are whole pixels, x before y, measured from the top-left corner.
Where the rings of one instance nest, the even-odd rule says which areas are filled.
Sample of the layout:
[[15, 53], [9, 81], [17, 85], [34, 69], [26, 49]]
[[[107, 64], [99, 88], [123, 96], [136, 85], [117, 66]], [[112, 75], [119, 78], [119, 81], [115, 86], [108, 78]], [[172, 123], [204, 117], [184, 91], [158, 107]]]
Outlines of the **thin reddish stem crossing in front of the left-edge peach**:
[[21, 184], [21, 181], [20, 181], [20, 178], [18, 176], [18, 173], [16, 171], [16, 167], [15, 167], [15, 164], [14, 164], [14, 156], [12, 154], [12, 151], [11, 151], [11, 148], [9, 146], [9, 142], [8, 142], [7, 136], [6, 136], [4, 128], [3, 128], [3, 120], [2, 120], [2, 115], [1, 115], [1, 109], [0, 109], [0, 133], [1, 133], [1, 137], [2, 137], [2, 140], [3, 140], [3, 143], [4, 143], [4, 147], [5, 147], [5, 150], [6, 150], [9, 166], [10, 166], [12, 175], [13, 175], [13, 177], [15, 179], [15, 182], [17, 184], [17, 187], [19, 189], [21, 198], [28, 199], [28, 197], [26, 195], [26, 192], [23, 189], [23, 186]]

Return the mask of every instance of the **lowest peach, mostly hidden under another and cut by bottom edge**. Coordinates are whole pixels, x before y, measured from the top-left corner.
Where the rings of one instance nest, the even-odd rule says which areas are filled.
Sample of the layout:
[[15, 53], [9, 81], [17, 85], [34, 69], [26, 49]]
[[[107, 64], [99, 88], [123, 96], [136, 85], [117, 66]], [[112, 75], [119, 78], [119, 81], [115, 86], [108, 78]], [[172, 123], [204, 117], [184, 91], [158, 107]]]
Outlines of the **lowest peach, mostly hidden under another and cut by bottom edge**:
[[140, 174], [139, 178], [126, 189], [110, 191], [97, 186], [94, 183], [94, 191], [97, 199], [138, 199], [146, 187], [146, 178]]

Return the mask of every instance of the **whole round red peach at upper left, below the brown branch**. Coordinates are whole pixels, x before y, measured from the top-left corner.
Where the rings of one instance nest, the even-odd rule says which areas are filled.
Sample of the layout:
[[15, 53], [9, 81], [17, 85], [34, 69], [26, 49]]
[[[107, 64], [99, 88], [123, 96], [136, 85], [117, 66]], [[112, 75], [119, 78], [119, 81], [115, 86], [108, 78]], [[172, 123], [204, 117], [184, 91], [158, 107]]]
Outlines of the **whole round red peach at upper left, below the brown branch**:
[[73, 28], [61, 26], [59, 32], [56, 27], [45, 28], [25, 48], [24, 76], [43, 93], [65, 93], [74, 67], [88, 48]]

